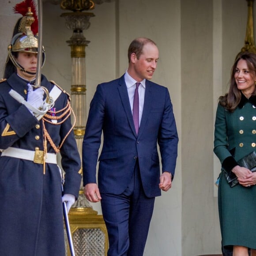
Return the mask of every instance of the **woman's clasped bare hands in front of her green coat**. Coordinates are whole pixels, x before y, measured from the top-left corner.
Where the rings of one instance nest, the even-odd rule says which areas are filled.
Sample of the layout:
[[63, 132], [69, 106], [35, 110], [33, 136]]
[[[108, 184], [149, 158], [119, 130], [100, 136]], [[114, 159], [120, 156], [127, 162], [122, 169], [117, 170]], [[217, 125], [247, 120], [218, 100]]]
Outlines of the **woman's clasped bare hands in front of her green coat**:
[[232, 172], [236, 174], [237, 180], [242, 186], [250, 187], [256, 184], [256, 173], [252, 173], [249, 169], [235, 166]]

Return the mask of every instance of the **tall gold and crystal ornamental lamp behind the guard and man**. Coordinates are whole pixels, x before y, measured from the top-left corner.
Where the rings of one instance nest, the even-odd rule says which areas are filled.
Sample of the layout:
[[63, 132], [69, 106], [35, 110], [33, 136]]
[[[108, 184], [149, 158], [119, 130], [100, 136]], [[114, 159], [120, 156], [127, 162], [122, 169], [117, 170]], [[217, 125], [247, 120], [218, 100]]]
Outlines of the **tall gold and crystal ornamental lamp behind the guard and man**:
[[[60, 8], [69, 11], [63, 13], [61, 17], [65, 18], [67, 28], [73, 31], [67, 43], [71, 47], [71, 104], [76, 116], [74, 133], [80, 156], [82, 156], [82, 143], [87, 121], [85, 48], [90, 43], [84, 37], [83, 30], [90, 27], [90, 18], [95, 16], [88, 11], [94, 9], [94, 3], [102, 4], [103, 2], [113, 2], [113, 0], [61, 0], [60, 2]], [[82, 183], [79, 198], [68, 215], [75, 255], [106, 256], [108, 234], [105, 222], [102, 215], [98, 215], [98, 212], [93, 210], [84, 196]], [[66, 245], [68, 246], [67, 242]], [[68, 248], [66, 251], [69, 256]]]

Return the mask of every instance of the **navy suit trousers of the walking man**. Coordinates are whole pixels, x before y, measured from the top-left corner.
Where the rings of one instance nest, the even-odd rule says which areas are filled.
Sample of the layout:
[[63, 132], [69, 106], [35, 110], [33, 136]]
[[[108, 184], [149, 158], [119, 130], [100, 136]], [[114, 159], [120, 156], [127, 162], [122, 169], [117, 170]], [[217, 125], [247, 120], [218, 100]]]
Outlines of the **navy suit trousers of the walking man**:
[[143, 256], [154, 197], [148, 198], [144, 193], [138, 162], [122, 194], [102, 193], [101, 196], [102, 215], [109, 235], [108, 256]]

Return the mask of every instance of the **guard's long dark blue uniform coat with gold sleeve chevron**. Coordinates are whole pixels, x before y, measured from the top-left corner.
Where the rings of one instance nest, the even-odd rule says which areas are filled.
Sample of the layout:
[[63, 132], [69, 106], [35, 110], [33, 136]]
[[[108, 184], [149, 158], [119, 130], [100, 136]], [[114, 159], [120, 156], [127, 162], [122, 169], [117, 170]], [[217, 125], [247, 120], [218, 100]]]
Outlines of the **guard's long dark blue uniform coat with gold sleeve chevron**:
[[[41, 85], [54, 86], [42, 75]], [[8, 147], [43, 150], [42, 120], [12, 98], [13, 89], [26, 99], [26, 82], [16, 74], [0, 83], [0, 149]], [[54, 107], [63, 109], [68, 95], [61, 93]], [[59, 120], [60, 121], [60, 120]], [[38, 125], [39, 124], [39, 125]], [[62, 124], [45, 122], [58, 146], [71, 128], [70, 117]], [[38, 139], [39, 136], [39, 139]], [[47, 143], [47, 151], [55, 153]], [[73, 132], [60, 149], [65, 170], [64, 193], [78, 197], [81, 175], [80, 157]], [[7, 156], [0, 157], [0, 255], [64, 256], [64, 226], [61, 202], [61, 177], [56, 164], [43, 165]]]

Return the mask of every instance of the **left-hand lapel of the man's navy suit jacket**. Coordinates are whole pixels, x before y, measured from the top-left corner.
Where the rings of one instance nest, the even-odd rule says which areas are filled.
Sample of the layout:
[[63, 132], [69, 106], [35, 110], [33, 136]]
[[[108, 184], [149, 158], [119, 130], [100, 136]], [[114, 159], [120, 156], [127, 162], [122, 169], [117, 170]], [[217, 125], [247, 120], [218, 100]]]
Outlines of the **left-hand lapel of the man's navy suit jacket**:
[[127, 87], [126, 87], [126, 84], [125, 84], [125, 81], [124, 81], [124, 75], [121, 76], [120, 79], [119, 79], [118, 90], [119, 90], [121, 101], [122, 101], [123, 106], [124, 106], [124, 111], [127, 115], [128, 122], [130, 124], [131, 129], [132, 129], [132, 132], [134, 133], [135, 136], [137, 136], [135, 126], [134, 126], [134, 122], [133, 122], [133, 118], [132, 118], [132, 110], [131, 110], [131, 105], [130, 105], [130, 101], [129, 101], [129, 97], [128, 97]]

